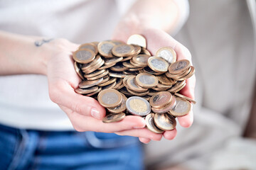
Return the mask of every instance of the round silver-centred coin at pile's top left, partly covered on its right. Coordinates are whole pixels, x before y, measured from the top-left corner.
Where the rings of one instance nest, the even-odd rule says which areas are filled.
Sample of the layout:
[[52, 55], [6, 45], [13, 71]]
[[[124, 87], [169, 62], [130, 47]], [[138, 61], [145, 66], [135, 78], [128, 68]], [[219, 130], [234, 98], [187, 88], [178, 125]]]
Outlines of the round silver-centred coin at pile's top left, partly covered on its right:
[[114, 47], [113, 42], [108, 41], [102, 41], [97, 45], [97, 49], [100, 53], [100, 55], [106, 57], [106, 58], [112, 58], [112, 48]]

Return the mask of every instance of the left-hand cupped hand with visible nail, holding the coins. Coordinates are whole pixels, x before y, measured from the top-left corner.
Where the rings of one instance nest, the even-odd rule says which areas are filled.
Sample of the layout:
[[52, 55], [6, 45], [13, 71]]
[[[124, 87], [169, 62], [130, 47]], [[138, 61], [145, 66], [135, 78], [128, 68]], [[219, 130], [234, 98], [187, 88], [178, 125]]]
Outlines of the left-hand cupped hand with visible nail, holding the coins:
[[139, 116], [127, 116], [117, 123], [102, 123], [105, 108], [94, 98], [75, 93], [81, 79], [75, 72], [72, 52], [78, 49], [78, 45], [58, 39], [42, 47], [46, 47], [43, 51], [50, 56], [46, 62], [50, 99], [67, 113], [75, 130], [117, 132], [144, 128], [145, 121]]

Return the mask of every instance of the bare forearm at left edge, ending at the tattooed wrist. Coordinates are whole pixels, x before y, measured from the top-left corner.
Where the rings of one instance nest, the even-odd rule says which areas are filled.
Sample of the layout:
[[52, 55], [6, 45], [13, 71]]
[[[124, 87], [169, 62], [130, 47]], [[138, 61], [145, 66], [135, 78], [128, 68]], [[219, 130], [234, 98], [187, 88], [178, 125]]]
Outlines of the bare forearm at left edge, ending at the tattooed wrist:
[[37, 40], [42, 38], [0, 31], [0, 75], [43, 74], [46, 62]]

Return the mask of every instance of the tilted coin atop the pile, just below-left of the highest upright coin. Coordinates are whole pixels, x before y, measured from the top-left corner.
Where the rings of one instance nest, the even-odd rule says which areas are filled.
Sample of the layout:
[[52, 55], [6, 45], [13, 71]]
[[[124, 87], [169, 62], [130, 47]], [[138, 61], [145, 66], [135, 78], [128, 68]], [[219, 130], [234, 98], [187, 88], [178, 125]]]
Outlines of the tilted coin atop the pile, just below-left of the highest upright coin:
[[134, 55], [134, 46], [132, 45], [116, 45], [112, 48], [112, 54], [117, 57], [127, 57], [129, 55]]

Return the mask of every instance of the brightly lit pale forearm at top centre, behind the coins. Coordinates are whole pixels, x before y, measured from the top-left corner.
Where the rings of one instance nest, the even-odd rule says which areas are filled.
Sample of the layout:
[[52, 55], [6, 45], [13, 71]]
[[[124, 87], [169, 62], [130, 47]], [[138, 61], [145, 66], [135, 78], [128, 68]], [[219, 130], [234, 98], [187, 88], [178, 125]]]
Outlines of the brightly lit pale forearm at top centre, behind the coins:
[[181, 20], [186, 19], [186, 4], [186, 0], [138, 0], [119, 21], [114, 38], [119, 39], [117, 35], [121, 34], [121, 39], [125, 39], [124, 35], [142, 34], [147, 28], [157, 28], [171, 33], [183, 22]]

